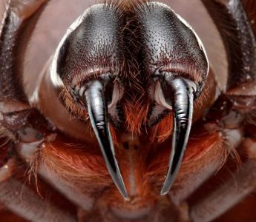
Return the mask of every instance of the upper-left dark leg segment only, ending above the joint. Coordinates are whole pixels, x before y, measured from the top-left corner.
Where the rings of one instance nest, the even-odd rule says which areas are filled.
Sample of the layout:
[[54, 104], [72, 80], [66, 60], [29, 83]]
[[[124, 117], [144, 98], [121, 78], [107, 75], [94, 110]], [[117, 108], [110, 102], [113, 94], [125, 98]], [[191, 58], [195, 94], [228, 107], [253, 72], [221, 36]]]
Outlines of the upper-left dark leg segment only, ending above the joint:
[[24, 51], [46, 4], [47, 0], [7, 3], [0, 35], [0, 102], [27, 103], [22, 87]]

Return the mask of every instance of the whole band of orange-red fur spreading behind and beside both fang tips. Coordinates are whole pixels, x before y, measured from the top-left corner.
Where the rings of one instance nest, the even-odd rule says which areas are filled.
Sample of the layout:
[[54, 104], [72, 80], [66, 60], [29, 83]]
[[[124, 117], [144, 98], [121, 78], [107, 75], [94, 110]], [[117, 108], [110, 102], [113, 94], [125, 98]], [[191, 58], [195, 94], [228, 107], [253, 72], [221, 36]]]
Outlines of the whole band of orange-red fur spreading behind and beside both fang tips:
[[[200, 141], [200, 143], [198, 143]], [[118, 190], [111, 180], [108, 170], [98, 146], [83, 144], [66, 144], [64, 138], [57, 138], [51, 144], [45, 144], [42, 149], [42, 161], [47, 164], [50, 171], [56, 172], [62, 178], [76, 183], [73, 186], [87, 187], [88, 192], [105, 190], [100, 200], [102, 204], [115, 203], [118, 207], [143, 207], [146, 203], [154, 204], [159, 200], [159, 190], [163, 185], [163, 178], [168, 168], [170, 155], [170, 141], [161, 145], [157, 149], [149, 149], [151, 146], [140, 144], [140, 149], [116, 149], [116, 158], [119, 160], [119, 167], [122, 172], [128, 191], [131, 189], [129, 176], [134, 174], [136, 181], [136, 192], [140, 199], [135, 201], [135, 205], [123, 202]], [[183, 161], [177, 184], [185, 175], [200, 171], [203, 161], [207, 162], [219, 160], [225, 151], [223, 146], [223, 135], [220, 132], [206, 132], [203, 127], [191, 135], [188, 142], [188, 149]], [[129, 158], [131, 157], [131, 158]], [[134, 164], [134, 172], [131, 172], [131, 159]], [[77, 184], [78, 183], [78, 184]], [[94, 186], [94, 185], [95, 186]], [[174, 184], [175, 185], [175, 184]]]

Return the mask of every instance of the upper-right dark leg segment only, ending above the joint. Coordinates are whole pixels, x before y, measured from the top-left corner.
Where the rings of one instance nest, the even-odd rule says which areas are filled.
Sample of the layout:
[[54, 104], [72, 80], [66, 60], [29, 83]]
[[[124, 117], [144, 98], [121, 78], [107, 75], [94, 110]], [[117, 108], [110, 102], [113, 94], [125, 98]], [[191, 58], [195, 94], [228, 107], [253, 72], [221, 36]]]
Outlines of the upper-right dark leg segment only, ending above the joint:
[[227, 90], [256, 81], [256, 41], [240, 0], [202, 0], [217, 25], [229, 62]]

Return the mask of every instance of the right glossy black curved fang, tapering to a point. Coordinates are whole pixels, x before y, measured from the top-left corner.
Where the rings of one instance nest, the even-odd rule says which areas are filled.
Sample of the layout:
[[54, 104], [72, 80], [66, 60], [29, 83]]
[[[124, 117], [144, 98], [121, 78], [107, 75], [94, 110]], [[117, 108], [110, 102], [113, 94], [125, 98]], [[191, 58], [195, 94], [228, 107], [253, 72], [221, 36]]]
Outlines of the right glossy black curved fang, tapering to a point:
[[161, 195], [166, 195], [174, 183], [180, 169], [183, 155], [188, 143], [193, 115], [194, 93], [196, 84], [185, 78], [165, 78], [165, 83], [171, 87], [173, 97], [171, 105], [174, 112], [174, 132], [172, 137], [171, 157], [168, 173], [161, 190]]

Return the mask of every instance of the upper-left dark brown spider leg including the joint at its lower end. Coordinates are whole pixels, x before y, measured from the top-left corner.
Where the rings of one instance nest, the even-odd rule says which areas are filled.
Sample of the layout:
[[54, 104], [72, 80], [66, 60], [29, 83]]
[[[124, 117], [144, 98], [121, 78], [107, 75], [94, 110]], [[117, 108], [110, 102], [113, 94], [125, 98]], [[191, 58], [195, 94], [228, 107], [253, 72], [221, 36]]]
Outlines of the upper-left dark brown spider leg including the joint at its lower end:
[[10, 0], [4, 13], [0, 30], [0, 124], [12, 132], [35, 117], [40, 126], [45, 124], [42, 115], [28, 103], [22, 75], [24, 52], [47, 2]]

